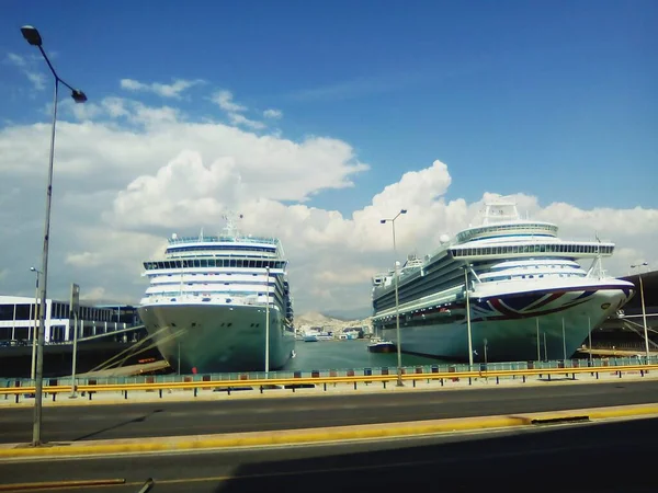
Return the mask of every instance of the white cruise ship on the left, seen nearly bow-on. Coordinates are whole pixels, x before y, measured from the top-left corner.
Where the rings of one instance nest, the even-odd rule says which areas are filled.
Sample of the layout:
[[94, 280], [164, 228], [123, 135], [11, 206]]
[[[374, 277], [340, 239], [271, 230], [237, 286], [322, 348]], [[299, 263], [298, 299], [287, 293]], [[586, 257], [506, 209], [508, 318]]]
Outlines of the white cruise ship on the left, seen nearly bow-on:
[[242, 236], [225, 219], [224, 234], [172, 234], [164, 255], [144, 263], [150, 285], [139, 317], [180, 372], [275, 370], [294, 354], [280, 240]]

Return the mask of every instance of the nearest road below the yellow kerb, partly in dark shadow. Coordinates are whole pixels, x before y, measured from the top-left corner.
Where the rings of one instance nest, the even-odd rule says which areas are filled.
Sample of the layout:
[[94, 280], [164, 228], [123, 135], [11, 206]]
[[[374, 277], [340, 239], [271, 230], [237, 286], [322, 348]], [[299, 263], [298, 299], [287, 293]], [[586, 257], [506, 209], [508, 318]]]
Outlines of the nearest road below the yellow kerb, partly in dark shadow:
[[[0, 463], [0, 483], [125, 479], [152, 493], [655, 492], [658, 420], [387, 442]], [[61, 491], [61, 490], [60, 490]]]

